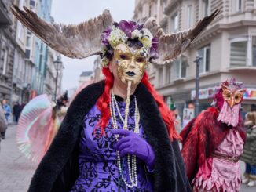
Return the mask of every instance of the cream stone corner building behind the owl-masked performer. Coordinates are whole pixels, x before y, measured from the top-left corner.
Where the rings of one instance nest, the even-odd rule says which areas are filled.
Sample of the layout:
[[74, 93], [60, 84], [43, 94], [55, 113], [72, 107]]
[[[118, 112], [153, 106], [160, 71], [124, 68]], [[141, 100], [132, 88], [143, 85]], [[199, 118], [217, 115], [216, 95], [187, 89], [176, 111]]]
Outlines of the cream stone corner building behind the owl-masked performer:
[[200, 110], [210, 106], [215, 87], [231, 78], [247, 87], [243, 109], [251, 110], [256, 103], [255, 0], [137, 0], [136, 4], [134, 19], [155, 16], [166, 33], [187, 30], [219, 9], [185, 53], [165, 66], [151, 65], [149, 77], [155, 89], [182, 111], [195, 99], [194, 60], [199, 55]]

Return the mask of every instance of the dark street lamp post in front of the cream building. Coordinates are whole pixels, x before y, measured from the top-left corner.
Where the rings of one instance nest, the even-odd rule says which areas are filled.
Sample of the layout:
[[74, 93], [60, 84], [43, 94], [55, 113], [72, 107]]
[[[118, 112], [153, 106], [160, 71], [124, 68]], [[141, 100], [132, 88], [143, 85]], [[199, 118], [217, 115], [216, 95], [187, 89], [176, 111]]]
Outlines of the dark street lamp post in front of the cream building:
[[196, 60], [194, 60], [194, 63], [196, 63], [196, 107], [195, 107], [195, 117], [199, 114], [199, 65], [200, 60], [202, 60], [202, 56], [199, 56], [199, 54], [196, 54]]

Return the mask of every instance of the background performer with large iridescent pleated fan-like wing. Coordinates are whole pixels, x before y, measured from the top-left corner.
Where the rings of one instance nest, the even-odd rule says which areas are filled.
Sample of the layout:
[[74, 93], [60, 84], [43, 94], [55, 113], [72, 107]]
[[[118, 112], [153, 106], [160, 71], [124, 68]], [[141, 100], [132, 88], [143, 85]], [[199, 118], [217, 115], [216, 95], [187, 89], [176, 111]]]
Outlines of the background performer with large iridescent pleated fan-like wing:
[[31, 161], [38, 163], [49, 149], [60, 127], [68, 102], [68, 92], [57, 99], [53, 107], [46, 94], [36, 96], [24, 107], [16, 129], [16, 143]]

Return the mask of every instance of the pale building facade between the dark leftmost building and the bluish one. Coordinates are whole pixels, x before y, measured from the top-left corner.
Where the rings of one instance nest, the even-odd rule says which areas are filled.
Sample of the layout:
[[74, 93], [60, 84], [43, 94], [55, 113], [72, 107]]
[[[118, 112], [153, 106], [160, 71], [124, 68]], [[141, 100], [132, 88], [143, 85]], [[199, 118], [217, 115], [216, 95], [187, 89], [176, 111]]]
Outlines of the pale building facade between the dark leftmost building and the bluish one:
[[[16, 1], [16, 5], [20, 9], [26, 6], [35, 10], [33, 1], [19, 0]], [[35, 67], [35, 63], [30, 58], [31, 55], [27, 54], [27, 49], [33, 49], [32, 42], [35, 41], [35, 37], [32, 36], [31, 31], [20, 24], [15, 16], [13, 16], [13, 24], [16, 26], [16, 49], [13, 67], [12, 103], [27, 103], [30, 100], [31, 91], [33, 91], [31, 82]]]

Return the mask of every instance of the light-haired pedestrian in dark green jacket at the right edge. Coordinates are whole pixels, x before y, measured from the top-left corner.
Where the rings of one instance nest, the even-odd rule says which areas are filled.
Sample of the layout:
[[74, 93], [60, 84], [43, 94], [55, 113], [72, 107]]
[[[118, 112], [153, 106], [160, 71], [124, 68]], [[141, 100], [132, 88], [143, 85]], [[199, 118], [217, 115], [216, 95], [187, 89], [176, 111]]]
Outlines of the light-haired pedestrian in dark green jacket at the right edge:
[[246, 164], [243, 184], [250, 187], [256, 184], [256, 112], [246, 114], [244, 125], [246, 126], [247, 139], [243, 147], [243, 154], [240, 160]]

